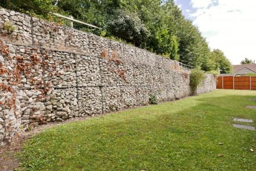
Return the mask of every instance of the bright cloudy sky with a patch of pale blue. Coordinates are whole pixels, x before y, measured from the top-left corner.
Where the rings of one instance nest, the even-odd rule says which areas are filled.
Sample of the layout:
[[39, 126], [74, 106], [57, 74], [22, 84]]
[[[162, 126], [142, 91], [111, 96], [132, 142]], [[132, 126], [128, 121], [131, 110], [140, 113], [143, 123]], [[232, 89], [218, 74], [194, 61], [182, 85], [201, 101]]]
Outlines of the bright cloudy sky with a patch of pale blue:
[[175, 0], [199, 27], [211, 49], [221, 49], [233, 65], [256, 61], [255, 0]]

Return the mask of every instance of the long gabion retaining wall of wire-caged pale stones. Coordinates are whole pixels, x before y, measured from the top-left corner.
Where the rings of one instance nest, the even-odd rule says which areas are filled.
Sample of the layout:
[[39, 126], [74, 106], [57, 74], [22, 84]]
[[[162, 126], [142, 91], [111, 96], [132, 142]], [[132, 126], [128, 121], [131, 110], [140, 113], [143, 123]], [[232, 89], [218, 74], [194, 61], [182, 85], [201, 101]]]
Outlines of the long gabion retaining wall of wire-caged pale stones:
[[[5, 22], [16, 30], [8, 34]], [[1, 69], [8, 70], [0, 74], [0, 84], [12, 86], [12, 93], [1, 89], [0, 98], [15, 96], [13, 107], [1, 103], [2, 144], [20, 126], [148, 105], [152, 95], [164, 102], [191, 94], [189, 73], [177, 61], [137, 47], [2, 8], [0, 34], [9, 51], [0, 51]], [[25, 64], [30, 67], [19, 69], [17, 84], [11, 84], [10, 74]], [[214, 77], [207, 74], [197, 93], [214, 89]]]

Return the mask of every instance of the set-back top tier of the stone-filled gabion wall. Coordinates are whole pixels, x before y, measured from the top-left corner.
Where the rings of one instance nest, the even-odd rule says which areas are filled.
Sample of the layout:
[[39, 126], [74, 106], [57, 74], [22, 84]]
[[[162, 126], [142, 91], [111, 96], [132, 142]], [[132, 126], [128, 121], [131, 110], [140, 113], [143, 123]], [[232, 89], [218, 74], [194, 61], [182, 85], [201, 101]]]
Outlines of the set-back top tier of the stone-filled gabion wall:
[[[4, 24], [13, 23], [16, 27], [14, 32], [7, 35]], [[118, 56], [122, 61], [134, 62], [156, 67], [176, 68], [177, 61], [168, 60], [162, 56], [155, 55], [144, 49], [131, 45], [105, 39], [100, 36], [70, 30], [68, 27], [59, 26], [45, 20], [34, 18], [19, 12], [10, 11], [0, 7], [0, 34], [7, 35], [6, 39], [20, 45], [34, 45], [38, 47], [82, 53], [93, 56]]]

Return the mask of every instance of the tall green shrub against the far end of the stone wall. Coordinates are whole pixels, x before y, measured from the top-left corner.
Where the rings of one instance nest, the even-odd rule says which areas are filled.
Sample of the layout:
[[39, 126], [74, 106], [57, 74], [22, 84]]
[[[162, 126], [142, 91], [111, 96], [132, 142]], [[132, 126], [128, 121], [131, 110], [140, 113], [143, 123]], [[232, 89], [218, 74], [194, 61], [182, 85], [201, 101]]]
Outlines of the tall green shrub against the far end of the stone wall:
[[197, 87], [204, 80], [204, 71], [199, 68], [192, 69], [189, 77], [192, 93], [195, 94]]

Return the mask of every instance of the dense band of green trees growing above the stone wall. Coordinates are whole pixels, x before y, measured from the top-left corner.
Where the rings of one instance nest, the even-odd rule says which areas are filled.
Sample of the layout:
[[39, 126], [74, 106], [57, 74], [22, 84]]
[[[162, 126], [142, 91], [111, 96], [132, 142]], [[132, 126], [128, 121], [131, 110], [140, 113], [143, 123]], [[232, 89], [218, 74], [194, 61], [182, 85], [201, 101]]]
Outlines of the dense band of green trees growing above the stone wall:
[[205, 71], [230, 72], [228, 59], [212, 57], [215, 54], [199, 29], [185, 19], [173, 0], [3, 0], [0, 5], [61, 24], [67, 24], [66, 20], [48, 11], [72, 15], [102, 28], [74, 23], [76, 29], [134, 44]]

